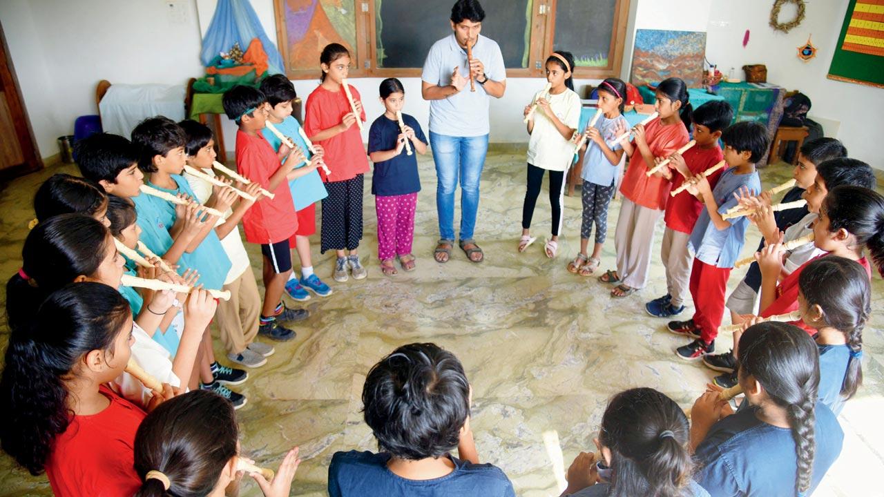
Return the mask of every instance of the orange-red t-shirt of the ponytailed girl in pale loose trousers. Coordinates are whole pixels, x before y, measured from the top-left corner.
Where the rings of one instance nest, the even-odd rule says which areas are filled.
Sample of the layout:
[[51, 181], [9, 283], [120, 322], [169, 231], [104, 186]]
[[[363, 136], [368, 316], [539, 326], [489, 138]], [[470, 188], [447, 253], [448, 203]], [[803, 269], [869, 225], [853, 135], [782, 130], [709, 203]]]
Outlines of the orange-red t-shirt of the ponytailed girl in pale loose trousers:
[[[644, 126], [644, 138], [654, 157], [668, 157], [679, 147], [688, 142], [688, 129], [682, 121], [663, 126], [660, 119], [654, 119]], [[629, 200], [648, 209], [664, 210], [672, 183], [657, 176], [648, 178], [644, 175], [648, 166], [644, 157], [636, 151], [629, 157], [629, 167], [623, 177], [620, 191]]]

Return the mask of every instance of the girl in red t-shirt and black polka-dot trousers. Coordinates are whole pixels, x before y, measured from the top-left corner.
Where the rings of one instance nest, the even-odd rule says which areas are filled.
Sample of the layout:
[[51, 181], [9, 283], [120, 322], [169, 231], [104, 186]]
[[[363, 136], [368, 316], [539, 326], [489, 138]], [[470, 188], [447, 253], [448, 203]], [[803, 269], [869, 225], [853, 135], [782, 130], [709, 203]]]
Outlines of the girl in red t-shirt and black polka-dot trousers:
[[[347, 85], [353, 96], [351, 106], [341, 82], [347, 79], [350, 52], [339, 43], [331, 43], [319, 56], [323, 73], [321, 83], [307, 99], [304, 131], [310, 141], [325, 150], [325, 164], [331, 171], [320, 172], [329, 195], [322, 200], [323, 225], [320, 252], [334, 250], [338, 255], [335, 281], [363, 279], [367, 272], [359, 262], [362, 240], [362, 185], [369, 171], [369, 159], [362, 146], [362, 133], [354, 126], [365, 121], [365, 111], [356, 88]], [[354, 112], [355, 107], [355, 112]], [[349, 252], [349, 253], [347, 253]]]

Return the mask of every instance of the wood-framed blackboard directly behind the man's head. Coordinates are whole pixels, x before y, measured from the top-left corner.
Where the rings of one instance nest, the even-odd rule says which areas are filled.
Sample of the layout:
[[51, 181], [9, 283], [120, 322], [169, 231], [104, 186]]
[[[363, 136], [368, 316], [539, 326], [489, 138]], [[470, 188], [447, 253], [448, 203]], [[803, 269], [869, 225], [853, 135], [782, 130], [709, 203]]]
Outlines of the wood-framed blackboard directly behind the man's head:
[[[377, 67], [423, 67], [432, 44], [452, 33], [453, 4], [453, 0], [375, 0]], [[532, 4], [533, 0], [482, 1], [482, 34], [498, 42], [507, 68], [528, 66]]]

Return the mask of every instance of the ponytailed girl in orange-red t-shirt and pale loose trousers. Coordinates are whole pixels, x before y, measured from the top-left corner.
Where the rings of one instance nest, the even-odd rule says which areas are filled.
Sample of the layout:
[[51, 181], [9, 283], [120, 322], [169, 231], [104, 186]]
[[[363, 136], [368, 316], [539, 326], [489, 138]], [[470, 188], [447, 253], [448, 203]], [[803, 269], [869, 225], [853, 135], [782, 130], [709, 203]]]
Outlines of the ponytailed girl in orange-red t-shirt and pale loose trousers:
[[663, 80], [657, 87], [654, 109], [659, 119], [647, 126], [636, 125], [635, 143], [629, 139], [621, 141], [629, 166], [620, 187], [623, 203], [614, 233], [617, 270], [607, 271], [598, 278], [603, 283], [620, 283], [611, 291], [614, 297], [633, 294], [648, 280], [654, 225], [666, 209], [672, 183], [659, 176], [649, 178], [644, 173], [655, 164], [654, 157], [669, 157], [688, 142], [692, 108], [684, 81]]

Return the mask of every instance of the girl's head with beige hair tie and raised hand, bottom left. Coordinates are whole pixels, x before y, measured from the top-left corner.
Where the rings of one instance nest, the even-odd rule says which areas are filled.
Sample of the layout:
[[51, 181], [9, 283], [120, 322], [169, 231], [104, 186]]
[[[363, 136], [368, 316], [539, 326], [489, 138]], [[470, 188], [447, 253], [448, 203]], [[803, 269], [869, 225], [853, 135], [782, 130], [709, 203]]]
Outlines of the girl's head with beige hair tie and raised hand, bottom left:
[[[134, 467], [141, 478], [135, 497], [224, 497], [225, 488], [240, 479], [238, 432], [230, 402], [217, 394], [194, 390], [164, 402], [135, 434]], [[271, 481], [250, 476], [266, 497], [287, 497], [300, 463], [294, 447]]]

